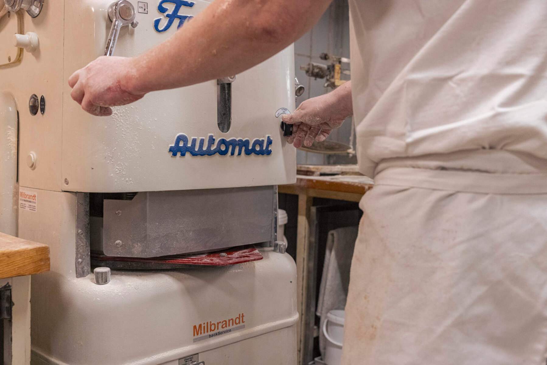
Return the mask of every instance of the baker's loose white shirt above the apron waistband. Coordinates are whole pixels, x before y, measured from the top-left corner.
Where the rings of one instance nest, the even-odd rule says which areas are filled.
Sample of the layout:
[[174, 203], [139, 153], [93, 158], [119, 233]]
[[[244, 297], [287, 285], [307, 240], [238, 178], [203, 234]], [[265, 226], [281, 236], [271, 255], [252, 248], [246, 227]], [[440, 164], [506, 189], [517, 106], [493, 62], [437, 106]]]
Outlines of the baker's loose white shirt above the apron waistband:
[[349, 0], [360, 170], [505, 149], [547, 159], [547, 1]]

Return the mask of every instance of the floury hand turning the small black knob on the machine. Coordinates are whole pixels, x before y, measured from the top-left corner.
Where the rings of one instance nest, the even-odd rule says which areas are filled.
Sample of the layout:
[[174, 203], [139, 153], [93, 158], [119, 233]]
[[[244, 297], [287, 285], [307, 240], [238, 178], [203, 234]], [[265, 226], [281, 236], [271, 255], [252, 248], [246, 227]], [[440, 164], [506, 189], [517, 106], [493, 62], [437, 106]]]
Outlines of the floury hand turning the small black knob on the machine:
[[336, 101], [334, 92], [305, 100], [293, 114], [284, 114], [282, 117], [285, 123], [294, 125], [293, 135], [287, 137], [287, 142], [293, 143], [296, 148], [302, 144], [310, 147], [313, 140], [322, 142], [349, 116], [351, 112], [348, 115]]

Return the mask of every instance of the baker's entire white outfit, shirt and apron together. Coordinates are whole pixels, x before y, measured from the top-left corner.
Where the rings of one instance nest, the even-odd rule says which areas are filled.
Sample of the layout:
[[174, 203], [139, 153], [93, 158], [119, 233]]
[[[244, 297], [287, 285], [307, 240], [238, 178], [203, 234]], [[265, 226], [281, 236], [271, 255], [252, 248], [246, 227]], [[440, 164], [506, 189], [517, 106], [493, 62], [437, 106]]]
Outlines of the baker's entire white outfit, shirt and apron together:
[[545, 365], [547, 1], [348, 3], [376, 186], [342, 363]]

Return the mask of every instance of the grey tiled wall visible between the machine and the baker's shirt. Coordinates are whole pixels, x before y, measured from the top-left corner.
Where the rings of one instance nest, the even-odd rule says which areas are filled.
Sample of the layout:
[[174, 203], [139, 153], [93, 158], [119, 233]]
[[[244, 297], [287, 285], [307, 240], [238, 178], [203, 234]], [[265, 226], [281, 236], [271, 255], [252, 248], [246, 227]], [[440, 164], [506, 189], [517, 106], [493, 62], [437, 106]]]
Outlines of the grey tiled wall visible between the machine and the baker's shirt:
[[[296, 106], [311, 97], [323, 95], [331, 91], [325, 88], [324, 79], [314, 80], [306, 76], [300, 66], [309, 62], [326, 63], [319, 59], [322, 53], [328, 53], [335, 56], [350, 57], [350, 19], [348, 15], [347, 0], [334, 0], [330, 7], [325, 11], [321, 19], [312, 28], [298, 39], [294, 44], [295, 52], [295, 70], [296, 77], [306, 91], [302, 96], [296, 97]], [[347, 65], [346, 65], [347, 66]], [[350, 143], [351, 118], [345, 121], [341, 128], [334, 130], [329, 136], [329, 140]], [[298, 150], [296, 153], [296, 162], [298, 164], [323, 165], [329, 161], [325, 155], [304, 152]]]

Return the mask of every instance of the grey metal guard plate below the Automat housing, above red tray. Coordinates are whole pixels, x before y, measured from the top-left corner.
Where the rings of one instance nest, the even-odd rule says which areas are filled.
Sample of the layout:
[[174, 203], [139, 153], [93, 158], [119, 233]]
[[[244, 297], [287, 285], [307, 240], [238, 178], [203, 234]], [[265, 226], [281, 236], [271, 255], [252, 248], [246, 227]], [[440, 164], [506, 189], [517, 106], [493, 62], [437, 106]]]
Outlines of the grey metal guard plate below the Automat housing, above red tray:
[[158, 257], [275, 240], [276, 187], [138, 193], [104, 200], [107, 256]]

